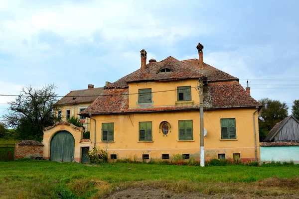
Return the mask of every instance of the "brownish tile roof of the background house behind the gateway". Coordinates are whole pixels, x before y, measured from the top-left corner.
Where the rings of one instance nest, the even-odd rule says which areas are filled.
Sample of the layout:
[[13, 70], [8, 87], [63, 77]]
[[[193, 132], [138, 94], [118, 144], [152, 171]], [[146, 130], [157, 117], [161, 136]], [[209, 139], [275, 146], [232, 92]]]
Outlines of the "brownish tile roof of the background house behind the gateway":
[[91, 103], [102, 94], [103, 90], [104, 88], [100, 87], [71, 91], [65, 97], [58, 100], [55, 105]]

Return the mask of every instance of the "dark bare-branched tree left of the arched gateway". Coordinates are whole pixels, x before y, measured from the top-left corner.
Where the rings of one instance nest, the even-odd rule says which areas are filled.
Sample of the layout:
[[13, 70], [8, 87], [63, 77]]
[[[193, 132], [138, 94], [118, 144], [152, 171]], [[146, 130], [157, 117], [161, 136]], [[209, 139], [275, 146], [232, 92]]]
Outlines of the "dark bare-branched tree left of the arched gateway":
[[42, 140], [43, 128], [59, 121], [54, 103], [57, 95], [55, 85], [45, 85], [41, 89], [25, 87], [15, 101], [9, 102], [8, 113], [3, 121], [10, 127], [16, 127], [21, 139]]

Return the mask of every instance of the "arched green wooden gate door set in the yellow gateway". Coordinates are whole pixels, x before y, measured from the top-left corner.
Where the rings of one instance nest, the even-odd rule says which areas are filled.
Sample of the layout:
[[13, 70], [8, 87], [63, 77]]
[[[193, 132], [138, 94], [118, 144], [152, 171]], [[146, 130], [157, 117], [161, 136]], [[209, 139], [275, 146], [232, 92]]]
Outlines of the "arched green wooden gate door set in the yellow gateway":
[[73, 162], [75, 139], [68, 131], [59, 131], [51, 139], [50, 160], [57, 162]]

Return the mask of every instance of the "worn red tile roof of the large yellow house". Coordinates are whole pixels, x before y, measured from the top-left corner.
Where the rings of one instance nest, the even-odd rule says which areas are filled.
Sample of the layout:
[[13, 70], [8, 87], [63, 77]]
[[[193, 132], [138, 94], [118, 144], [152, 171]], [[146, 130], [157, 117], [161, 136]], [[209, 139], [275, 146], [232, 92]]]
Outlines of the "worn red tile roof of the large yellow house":
[[[105, 87], [103, 93], [82, 115], [129, 112], [152, 112], [152, 111], [177, 111], [198, 110], [199, 105], [164, 106], [149, 108], [129, 108], [128, 83], [138, 81], [178, 80], [205, 77], [208, 80], [204, 88], [204, 107], [227, 108], [227, 107], [255, 107], [259, 104], [239, 84], [239, 79], [208, 64], [203, 69], [199, 68], [198, 59], [178, 61], [173, 57], [167, 57], [160, 62], [147, 65], [146, 70], [137, 70], [120, 80]], [[161, 69], [168, 68], [172, 72], [159, 73]]]

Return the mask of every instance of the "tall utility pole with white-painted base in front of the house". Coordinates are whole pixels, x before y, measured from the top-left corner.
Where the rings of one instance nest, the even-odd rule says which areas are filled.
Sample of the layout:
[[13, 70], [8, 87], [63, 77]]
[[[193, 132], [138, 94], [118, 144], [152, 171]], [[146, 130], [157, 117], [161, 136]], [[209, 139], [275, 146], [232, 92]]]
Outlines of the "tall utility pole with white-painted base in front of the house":
[[199, 80], [199, 123], [200, 123], [200, 166], [204, 167], [204, 135], [203, 135], [203, 80]]

